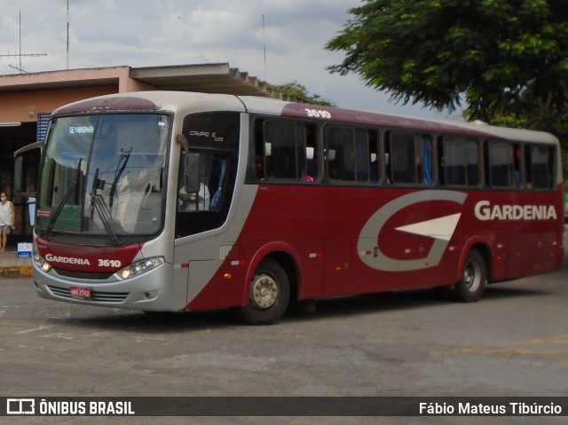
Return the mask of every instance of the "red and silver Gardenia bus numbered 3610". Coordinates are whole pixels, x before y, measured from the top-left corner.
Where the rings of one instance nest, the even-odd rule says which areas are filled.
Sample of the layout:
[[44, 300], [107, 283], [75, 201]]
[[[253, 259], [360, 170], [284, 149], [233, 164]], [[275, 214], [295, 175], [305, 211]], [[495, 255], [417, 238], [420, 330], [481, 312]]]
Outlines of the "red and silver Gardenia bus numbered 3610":
[[475, 302], [564, 260], [557, 139], [271, 98], [122, 93], [51, 114], [33, 279], [43, 298], [138, 311], [422, 287]]

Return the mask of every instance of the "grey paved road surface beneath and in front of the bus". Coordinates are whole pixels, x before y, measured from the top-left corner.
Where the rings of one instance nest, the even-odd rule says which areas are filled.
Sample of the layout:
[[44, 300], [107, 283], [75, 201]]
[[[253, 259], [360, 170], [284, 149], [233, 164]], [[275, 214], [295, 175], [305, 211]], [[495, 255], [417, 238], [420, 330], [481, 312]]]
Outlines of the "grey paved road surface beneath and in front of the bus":
[[[238, 325], [228, 311], [152, 315], [82, 308], [38, 298], [31, 279], [0, 280], [0, 395], [568, 396], [567, 305], [568, 261], [561, 272], [489, 287], [479, 303], [449, 302], [430, 290], [357, 296], [319, 302], [315, 313], [289, 314], [271, 327]], [[271, 421], [457, 418], [300, 419]], [[460, 423], [535, 423], [476, 419]], [[562, 423], [556, 419], [548, 422]], [[179, 423], [179, 418], [0, 418], [0, 423]]]

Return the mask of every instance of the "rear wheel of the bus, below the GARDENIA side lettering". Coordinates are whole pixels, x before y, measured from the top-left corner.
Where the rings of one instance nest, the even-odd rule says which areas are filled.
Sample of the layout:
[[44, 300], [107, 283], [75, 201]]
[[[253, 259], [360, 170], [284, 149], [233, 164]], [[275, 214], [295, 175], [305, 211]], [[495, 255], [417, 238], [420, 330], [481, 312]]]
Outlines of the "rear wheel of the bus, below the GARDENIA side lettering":
[[461, 280], [455, 284], [452, 296], [455, 301], [475, 303], [481, 298], [487, 284], [485, 259], [477, 249], [469, 251], [463, 264]]

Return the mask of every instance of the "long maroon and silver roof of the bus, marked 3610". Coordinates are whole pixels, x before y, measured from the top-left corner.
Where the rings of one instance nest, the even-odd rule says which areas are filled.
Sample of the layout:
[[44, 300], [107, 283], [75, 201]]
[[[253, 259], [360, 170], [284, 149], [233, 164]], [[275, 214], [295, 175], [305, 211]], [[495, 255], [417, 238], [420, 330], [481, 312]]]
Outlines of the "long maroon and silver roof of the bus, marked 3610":
[[189, 91], [137, 91], [111, 94], [60, 106], [53, 114], [90, 113], [103, 110], [171, 111], [185, 114], [195, 110], [223, 110], [273, 114], [296, 119], [306, 119], [311, 116], [319, 122], [349, 123], [383, 129], [412, 130], [434, 134], [446, 133], [469, 138], [500, 138], [518, 142], [558, 144], [558, 140], [552, 134], [542, 131], [496, 127], [479, 122], [425, 119], [356, 111], [340, 107], [300, 104], [272, 98]]

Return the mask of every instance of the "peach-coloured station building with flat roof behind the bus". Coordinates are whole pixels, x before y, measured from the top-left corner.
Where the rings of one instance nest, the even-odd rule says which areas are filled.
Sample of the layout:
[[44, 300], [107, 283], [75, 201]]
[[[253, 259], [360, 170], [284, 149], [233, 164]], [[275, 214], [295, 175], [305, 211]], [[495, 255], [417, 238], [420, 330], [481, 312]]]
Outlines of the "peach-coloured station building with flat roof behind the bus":
[[[0, 75], [0, 191], [16, 208], [11, 243], [29, 240], [26, 196], [14, 190], [13, 153], [42, 137], [55, 108], [83, 98], [132, 91], [201, 91], [281, 98], [281, 93], [229, 64], [170, 67], [101, 67], [35, 74]], [[39, 122], [39, 125], [38, 125]], [[35, 192], [39, 153], [26, 157], [25, 191]]]

